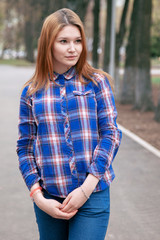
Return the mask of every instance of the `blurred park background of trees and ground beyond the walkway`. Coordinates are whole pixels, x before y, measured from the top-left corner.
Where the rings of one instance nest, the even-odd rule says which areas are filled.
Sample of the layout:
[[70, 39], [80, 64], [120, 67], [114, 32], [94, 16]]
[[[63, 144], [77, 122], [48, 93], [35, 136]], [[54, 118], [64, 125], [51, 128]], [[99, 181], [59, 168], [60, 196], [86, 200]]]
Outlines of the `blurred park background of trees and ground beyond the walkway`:
[[84, 23], [88, 61], [114, 79], [119, 123], [160, 149], [159, 0], [1, 0], [0, 64], [34, 66], [43, 21], [62, 7]]

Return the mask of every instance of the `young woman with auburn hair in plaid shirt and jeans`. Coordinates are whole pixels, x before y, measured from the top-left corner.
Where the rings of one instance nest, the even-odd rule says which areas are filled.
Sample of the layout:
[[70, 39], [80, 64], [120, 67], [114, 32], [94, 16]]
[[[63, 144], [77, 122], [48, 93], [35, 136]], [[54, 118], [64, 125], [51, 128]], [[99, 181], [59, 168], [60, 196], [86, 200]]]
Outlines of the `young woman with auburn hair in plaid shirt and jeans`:
[[121, 131], [109, 77], [86, 57], [79, 17], [69, 9], [48, 16], [21, 95], [17, 142], [41, 240], [106, 235]]

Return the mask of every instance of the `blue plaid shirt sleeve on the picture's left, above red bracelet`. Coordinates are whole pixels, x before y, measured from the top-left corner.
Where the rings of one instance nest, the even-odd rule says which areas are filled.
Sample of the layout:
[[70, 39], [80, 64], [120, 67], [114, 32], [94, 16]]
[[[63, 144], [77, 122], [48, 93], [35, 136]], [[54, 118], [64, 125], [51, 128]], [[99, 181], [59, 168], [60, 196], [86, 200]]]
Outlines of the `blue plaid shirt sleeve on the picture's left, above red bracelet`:
[[37, 127], [32, 113], [32, 101], [27, 96], [28, 87], [24, 88], [20, 99], [19, 112], [19, 140], [17, 141], [17, 154], [19, 169], [30, 189], [40, 180], [34, 158], [33, 148], [36, 138]]

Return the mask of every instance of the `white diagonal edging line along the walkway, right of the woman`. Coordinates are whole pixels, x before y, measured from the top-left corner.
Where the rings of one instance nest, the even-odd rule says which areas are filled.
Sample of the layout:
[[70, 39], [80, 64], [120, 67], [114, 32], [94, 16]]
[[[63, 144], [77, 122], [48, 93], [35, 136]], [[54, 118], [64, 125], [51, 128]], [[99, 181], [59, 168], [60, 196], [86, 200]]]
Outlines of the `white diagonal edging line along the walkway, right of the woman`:
[[131, 132], [128, 129], [124, 128], [120, 124], [118, 124], [118, 127], [121, 129], [121, 131], [125, 135], [127, 135], [130, 138], [132, 138], [134, 141], [136, 141], [141, 146], [146, 148], [148, 151], [152, 152], [153, 154], [155, 154], [157, 157], [160, 158], [160, 151], [157, 148], [153, 147], [151, 144], [149, 144], [148, 142], [144, 141], [142, 138], [138, 137], [136, 134], [134, 134], [133, 132]]

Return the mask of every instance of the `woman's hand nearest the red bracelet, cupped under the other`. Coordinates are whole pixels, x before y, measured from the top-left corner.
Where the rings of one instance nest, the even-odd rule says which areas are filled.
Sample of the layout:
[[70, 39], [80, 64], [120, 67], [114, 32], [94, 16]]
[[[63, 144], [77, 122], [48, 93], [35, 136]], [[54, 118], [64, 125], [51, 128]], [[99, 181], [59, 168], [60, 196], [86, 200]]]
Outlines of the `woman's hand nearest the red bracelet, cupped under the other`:
[[69, 220], [77, 213], [77, 210], [70, 211], [69, 213], [63, 212], [61, 210], [61, 203], [53, 199], [44, 198], [41, 192], [38, 192], [34, 196], [34, 201], [42, 211], [44, 211], [53, 218]]

